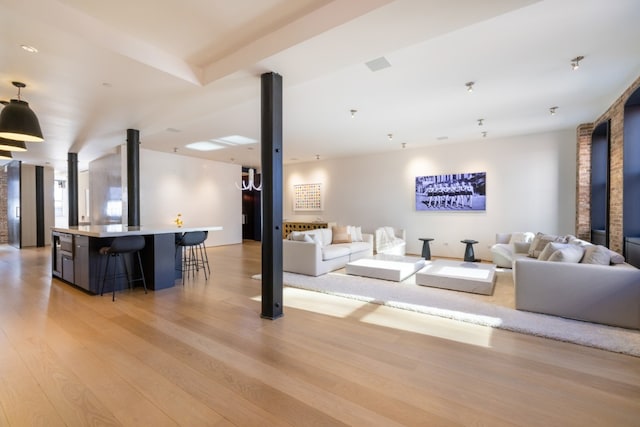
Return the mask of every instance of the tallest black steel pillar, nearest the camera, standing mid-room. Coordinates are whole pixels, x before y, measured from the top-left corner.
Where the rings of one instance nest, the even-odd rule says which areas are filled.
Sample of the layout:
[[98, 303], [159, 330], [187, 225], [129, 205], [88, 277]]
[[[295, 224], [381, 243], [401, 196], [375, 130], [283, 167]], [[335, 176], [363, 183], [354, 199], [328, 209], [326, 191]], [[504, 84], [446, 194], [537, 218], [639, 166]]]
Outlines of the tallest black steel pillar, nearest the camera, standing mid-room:
[[262, 314], [282, 316], [282, 76], [261, 76]]

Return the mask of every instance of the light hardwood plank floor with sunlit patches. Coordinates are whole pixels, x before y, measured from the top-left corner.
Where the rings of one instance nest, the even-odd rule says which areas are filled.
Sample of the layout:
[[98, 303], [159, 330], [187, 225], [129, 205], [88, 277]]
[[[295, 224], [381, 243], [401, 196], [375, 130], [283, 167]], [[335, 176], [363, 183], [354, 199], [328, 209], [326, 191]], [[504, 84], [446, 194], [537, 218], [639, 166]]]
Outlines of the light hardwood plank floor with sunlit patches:
[[212, 278], [87, 295], [0, 245], [0, 426], [639, 426], [640, 358], [285, 289], [260, 246]]

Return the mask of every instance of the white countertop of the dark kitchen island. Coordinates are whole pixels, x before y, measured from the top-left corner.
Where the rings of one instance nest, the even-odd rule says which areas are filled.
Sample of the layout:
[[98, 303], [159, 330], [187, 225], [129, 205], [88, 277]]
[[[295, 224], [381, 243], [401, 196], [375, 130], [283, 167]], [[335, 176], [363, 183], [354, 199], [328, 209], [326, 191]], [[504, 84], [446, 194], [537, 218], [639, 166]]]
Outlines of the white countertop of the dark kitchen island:
[[52, 231], [60, 233], [77, 234], [89, 237], [117, 237], [135, 236], [165, 233], [185, 233], [188, 231], [220, 231], [222, 226], [206, 225], [202, 227], [178, 227], [177, 225], [142, 225], [140, 227], [129, 227], [122, 224], [109, 225], [78, 225], [76, 227], [53, 227]]

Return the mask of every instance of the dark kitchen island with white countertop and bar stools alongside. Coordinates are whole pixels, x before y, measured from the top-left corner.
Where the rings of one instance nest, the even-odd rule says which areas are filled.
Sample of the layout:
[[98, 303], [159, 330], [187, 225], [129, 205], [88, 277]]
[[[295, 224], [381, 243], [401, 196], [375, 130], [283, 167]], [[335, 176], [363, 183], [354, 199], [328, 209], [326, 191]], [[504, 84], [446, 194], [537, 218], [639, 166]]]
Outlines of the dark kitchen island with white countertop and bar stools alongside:
[[[147, 287], [152, 290], [174, 286], [182, 278], [181, 253], [176, 251], [176, 237], [189, 231], [220, 231], [221, 226], [178, 227], [121, 224], [79, 225], [51, 229], [51, 274], [90, 293], [98, 294], [105, 256], [100, 248], [110, 246], [115, 237], [144, 236], [145, 247], [140, 252]], [[135, 267], [135, 263], [127, 265]], [[126, 285], [125, 280], [118, 287]]]

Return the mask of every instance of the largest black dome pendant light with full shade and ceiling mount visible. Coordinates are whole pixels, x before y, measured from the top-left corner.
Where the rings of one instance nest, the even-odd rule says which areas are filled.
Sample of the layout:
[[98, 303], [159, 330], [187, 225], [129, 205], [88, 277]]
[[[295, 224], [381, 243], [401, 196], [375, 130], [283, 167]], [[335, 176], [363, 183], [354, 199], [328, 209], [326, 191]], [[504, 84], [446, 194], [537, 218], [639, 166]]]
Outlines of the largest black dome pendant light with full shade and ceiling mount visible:
[[12, 83], [18, 88], [18, 99], [12, 99], [0, 112], [0, 137], [26, 142], [44, 141], [36, 113], [20, 99], [20, 89], [27, 85]]

